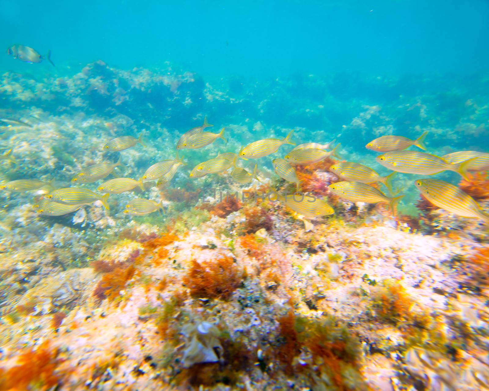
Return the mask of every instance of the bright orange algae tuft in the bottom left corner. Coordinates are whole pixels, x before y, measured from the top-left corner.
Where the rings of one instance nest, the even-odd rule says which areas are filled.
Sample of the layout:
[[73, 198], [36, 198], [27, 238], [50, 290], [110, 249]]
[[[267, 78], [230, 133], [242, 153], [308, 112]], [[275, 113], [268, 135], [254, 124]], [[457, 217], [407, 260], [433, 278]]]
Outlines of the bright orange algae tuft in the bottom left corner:
[[62, 363], [58, 354], [58, 349], [52, 349], [48, 342], [25, 351], [15, 367], [0, 369], [0, 391], [49, 390], [59, 385], [63, 376], [56, 373]]

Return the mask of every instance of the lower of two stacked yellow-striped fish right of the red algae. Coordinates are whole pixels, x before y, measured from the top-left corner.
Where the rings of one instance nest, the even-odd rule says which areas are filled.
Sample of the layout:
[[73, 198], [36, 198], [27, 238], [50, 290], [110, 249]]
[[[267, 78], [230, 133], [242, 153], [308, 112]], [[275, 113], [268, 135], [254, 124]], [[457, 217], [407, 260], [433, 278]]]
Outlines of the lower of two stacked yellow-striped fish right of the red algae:
[[342, 181], [328, 186], [331, 192], [337, 196], [353, 202], [367, 202], [376, 204], [386, 203], [392, 214], [396, 214], [396, 207], [403, 196], [388, 197], [375, 187], [362, 182]]

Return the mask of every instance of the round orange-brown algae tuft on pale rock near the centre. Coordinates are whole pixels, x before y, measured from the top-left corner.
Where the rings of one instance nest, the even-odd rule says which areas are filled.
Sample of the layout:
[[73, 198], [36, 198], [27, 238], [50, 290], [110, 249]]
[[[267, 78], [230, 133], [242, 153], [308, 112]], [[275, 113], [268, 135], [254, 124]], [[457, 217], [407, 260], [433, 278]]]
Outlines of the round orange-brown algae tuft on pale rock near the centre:
[[233, 258], [218, 255], [200, 263], [193, 260], [183, 283], [193, 296], [227, 299], [240, 286], [243, 277]]

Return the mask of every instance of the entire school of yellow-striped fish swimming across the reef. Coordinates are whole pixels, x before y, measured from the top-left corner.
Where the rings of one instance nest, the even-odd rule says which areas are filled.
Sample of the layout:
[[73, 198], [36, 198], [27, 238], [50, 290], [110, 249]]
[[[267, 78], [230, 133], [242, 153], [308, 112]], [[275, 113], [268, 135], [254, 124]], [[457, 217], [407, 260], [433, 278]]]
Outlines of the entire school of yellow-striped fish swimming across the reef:
[[[12, 53], [14, 53], [14, 49], [14, 47], [10, 48]], [[17, 58], [22, 61], [25, 61], [24, 58], [30, 58], [32, 60], [31, 62], [40, 62], [43, 59], [43, 56], [32, 54], [32, 52], [28, 54], [30, 57], [26, 57], [27, 54], [21, 53], [21, 58], [21, 54], [19, 53], [21, 52], [17, 51]], [[49, 56], [46, 58], [49, 59]], [[0, 119], [0, 122], [5, 123], [5, 126], [31, 127], [26, 122], [14, 119]], [[185, 165], [182, 158], [178, 155], [178, 150], [206, 147], [219, 138], [226, 142], [223, 137], [225, 128], [223, 127], [219, 133], [204, 131], [205, 128], [211, 126], [213, 125], [207, 122], [207, 118], [204, 118], [201, 126], [190, 129], [179, 138], [176, 145], [177, 152], [175, 158], [153, 164], [139, 179], [118, 177], [114, 173], [117, 167], [122, 166], [120, 158], [116, 163], [100, 162], [85, 167], [71, 179], [73, 183], [85, 184], [105, 179], [108, 175], [112, 174], [115, 176], [113, 179], [106, 180], [97, 187], [97, 191], [105, 193], [104, 195], [94, 193], [83, 187], [57, 189], [54, 180], [44, 182], [37, 179], [10, 181], [0, 185], [0, 189], [10, 192], [44, 189], [44, 199], [34, 205], [34, 209], [39, 214], [47, 216], [62, 216], [72, 213], [95, 201], [100, 201], [105, 208], [109, 209], [107, 199], [112, 194], [129, 192], [136, 187], [144, 192], [146, 190], [145, 181], [156, 180], [156, 186], [169, 183], [177, 173], [178, 168]], [[275, 153], [282, 146], [295, 146], [295, 143], [291, 140], [292, 135], [293, 130], [284, 139], [269, 138], [257, 140], [247, 146], [241, 147], [237, 153], [218, 153], [216, 157], [195, 166], [190, 171], [189, 177], [201, 178], [208, 174], [222, 173], [231, 169], [231, 178], [239, 184], [248, 184], [253, 180], [261, 182], [256, 164], [253, 171], [248, 172], [237, 164], [238, 160], [240, 158], [244, 160], [262, 158]], [[411, 146], [426, 150], [424, 145], [426, 135], [427, 132], [424, 132], [416, 140], [389, 135], [371, 141], [365, 147], [376, 152], [381, 152], [382, 154], [377, 156], [376, 161], [393, 172], [386, 176], [381, 176], [370, 167], [362, 164], [338, 161], [330, 167], [330, 171], [341, 180], [329, 185], [329, 190], [333, 194], [352, 202], [385, 203], [392, 214], [395, 215], [396, 206], [403, 196], [387, 196], [374, 185], [381, 183], [392, 193], [392, 179], [397, 172], [433, 175], [442, 171], [454, 171], [459, 173], [463, 178], [467, 178], [469, 171], [489, 170], [489, 153], [485, 152], [458, 151], [445, 156], [437, 156], [418, 150], [407, 150]], [[300, 193], [301, 182], [298, 179], [294, 166], [318, 163], [327, 157], [342, 160], [339, 155], [340, 144], [333, 147], [334, 141], [326, 144], [300, 144], [287, 152], [283, 158], [277, 158], [271, 161], [275, 173], [285, 181], [294, 183], [296, 188], [296, 193], [294, 194], [284, 196], [277, 193], [275, 201], [282, 202], [286, 207], [298, 214], [300, 219], [304, 220], [306, 231], [313, 227], [310, 221], [311, 219], [331, 215], [334, 213], [334, 210], [324, 199]], [[120, 152], [134, 147], [136, 144], [141, 144], [141, 146], [145, 147], [142, 135], [139, 138], [132, 136], [116, 137], [107, 142], [103, 149]], [[12, 164], [18, 164], [12, 155], [12, 149], [1, 154], [0, 159]], [[468, 196], [456, 186], [437, 179], [416, 179], [414, 184], [420, 193], [435, 206], [457, 216], [477, 218], [489, 224], [489, 214], [484, 212], [472, 197]], [[142, 216], [160, 209], [164, 213], [162, 202], [145, 198], [135, 198], [126, 204], [123, 213], [130, 216]]]

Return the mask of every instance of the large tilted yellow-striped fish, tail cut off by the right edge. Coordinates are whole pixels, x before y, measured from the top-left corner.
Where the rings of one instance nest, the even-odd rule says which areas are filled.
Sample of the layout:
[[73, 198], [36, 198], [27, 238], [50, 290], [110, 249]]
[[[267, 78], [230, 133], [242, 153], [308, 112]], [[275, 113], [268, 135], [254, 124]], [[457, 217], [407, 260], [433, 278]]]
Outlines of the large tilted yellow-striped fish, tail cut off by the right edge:
[[489, 214], [458, 187], [438, 179], [418, 179], [414, 184], [433, 205], [457, 216], [482, 219], [489, 224]]

